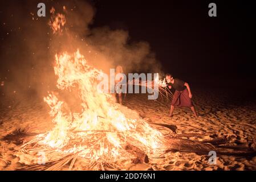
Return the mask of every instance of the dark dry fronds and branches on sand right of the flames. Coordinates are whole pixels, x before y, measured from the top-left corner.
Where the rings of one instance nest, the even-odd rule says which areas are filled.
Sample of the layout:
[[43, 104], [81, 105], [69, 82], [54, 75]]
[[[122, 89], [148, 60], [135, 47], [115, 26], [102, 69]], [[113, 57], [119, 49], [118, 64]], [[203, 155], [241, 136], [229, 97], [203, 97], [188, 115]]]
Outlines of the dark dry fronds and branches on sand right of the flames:
[[[202, 137], [207, 136], [210, 133], [198, 133], [198, 134], [177, 134], [177, 126], [166, 125], [162, 123], [151, 123], [154, 125], [164, 126], [173, 131], [173, 134], [166, 135], [165, 138], [170, 143], [170, 149], [166, 152], [180, 151], [180, 152], [195, 152], [198, 155], [208, 155], [209, 151], [216, 151], [217, 155], [234, 155], [234, 156], [256, 156], [256, 142], [255, 139], [250, 141], [249, 144], [243, 144], [242, 146], [230, 146], [225, 145], [230, 143], [235, 138], [234, 135], [228, 137], [224, 135], [221, 138], [212, 140], [190, 140], [182, 137]], [[225, 149], [224, 149], [225, 148]]]

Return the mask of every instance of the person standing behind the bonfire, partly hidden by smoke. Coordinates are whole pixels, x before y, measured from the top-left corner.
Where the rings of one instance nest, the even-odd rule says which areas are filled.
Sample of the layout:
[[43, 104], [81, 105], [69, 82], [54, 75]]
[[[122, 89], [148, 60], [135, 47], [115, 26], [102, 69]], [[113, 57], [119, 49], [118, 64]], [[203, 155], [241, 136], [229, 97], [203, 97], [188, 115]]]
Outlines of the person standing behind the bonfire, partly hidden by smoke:
[[[122, 104], [122, 84], [121, 82], [124, 80], [124, 76], [120, 75], [119, 73], [124, 73], [123, 71], [123, 67], [121, 67], [120, 65], [118, 65], [116, 67], [116, 73], [115, 73], [115, 94], [118, 94], [119, 97], [119, 104]], [[119, 76], [117, 76], [117, 74], [119, 74]]]

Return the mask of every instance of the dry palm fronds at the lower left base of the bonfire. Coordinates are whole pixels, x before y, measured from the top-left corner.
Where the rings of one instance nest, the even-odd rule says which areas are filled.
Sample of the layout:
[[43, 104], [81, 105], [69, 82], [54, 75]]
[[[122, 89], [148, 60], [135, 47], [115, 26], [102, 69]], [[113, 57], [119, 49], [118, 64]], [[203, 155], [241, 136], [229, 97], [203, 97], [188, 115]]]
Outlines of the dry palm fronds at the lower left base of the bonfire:
[[[99, 133], [101, 131], [97, 131]], [[105, 131], [104, 131], [105, 132]], [[105, 168], [111, 168], [111, 169], [120, 169], [121, 165], [117, 164], [118, 161], [111, 161], [106, 160], [107, 157], [103, 156], [102, 158], [99, 158], [98, 160], [92, 160], [91, 158], [84, 157], [82, 158], [79, 154], [82, 151], [78, 152], [70, 152], [70, 154], [67, 154], [66, 152], [63, 152], [60, 150], [60, 148], [52, 148], [49, 146], [46, 146], [44, 144], [40, 144], [40, 141], [46, 137], [47, 134], [30, 134], [30, 133], [24, 133], [23, 130], [17, 130], [14, 131], [13, 134], [11, 134], [12, 137], [5, 137], [3, 140], [9, 140], [13, 141], [19, 138], [19, 136], [22, 136], [23, 143], [19, 145], [16, 149], [19, 151], [22, 151], [24, 154], [29, 154], [32, 156], [38, 156], [38, 154], [43, 154], [42, 156], [38, 156], [38, 163], [31, 164], [29, 166], [25, 166], [22, 168], [19, 168], [18, 170], [36, 170], [36, 171], [58, 171], [61, 169], [68, 169], [72, 170], [74, 167], [74, 164], [77, 159], [83, 160], [83, 168], [87, 170], [104, 170]], [[26, 136], [26, 137], [25, 137]], [[78, 138], [77, 141], [72, 141], [74, 143], [81, 142], [81, 140]], [[74, 144], [74, 143], [71, 143]], [[94, 145], [96, 142], [91, 143], [91, 145]], [[126, 150], [126, 149], [125, 149]], [[126, 156], [127, 160], [133, 160], [133, 156]]]

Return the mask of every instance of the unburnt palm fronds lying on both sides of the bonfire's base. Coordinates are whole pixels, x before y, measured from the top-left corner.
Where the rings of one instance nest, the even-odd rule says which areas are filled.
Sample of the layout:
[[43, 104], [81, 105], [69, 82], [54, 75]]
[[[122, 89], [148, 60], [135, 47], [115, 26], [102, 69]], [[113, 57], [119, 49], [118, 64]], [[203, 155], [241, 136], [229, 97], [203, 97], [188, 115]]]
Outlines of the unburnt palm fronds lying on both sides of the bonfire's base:
[[[177, 128], [175, 126], [168, 126], [163, 125], [161, 123], [151, 123], [160, 125], [162, 127], [167, 127], [168, 129], [173, 129], [176, 131]], [[49, 148], [46, 146], [40, 146], [37, 142], [42, 139], [44, 134], [31, 134], [31, 133], [25, 133], [23, 130], [16, 130], [14, 133], [7, 135], [6, 137], [3, 137], [2, 140], [8, 140], [8, 141], [17, 141], [17, 140], [23, 140], [23, 144], [21, 144], [18, 147], [18, 150], [21, 150], [22, 152], [30, 155], [37, 155], [38, 152], [46, 152], [48, 156], [57, 156], [54, 159], [47, 160], [44, 164], [31, 164], [29, 166], [25, 166], [22, 168], [19, 168], [19, 170], [61, 170], [61, 169], [69, 169], [71, 170], [74, 167], [74, 164], [79, 156], [79, 152], [76, 152], [75, 154], [66, 154], [64, 155], [62, 152], [58, 151], [58, 148]], [[230, 143], [234, 136], [227, 137], [224, 135], [221, 138], [216, 138], [212, 140], [191, 140], [187, 139], [188, 137], [194, 137], [194, 138], [200, 138], [202, 136], [210, 135], [209, 133], [204, 134], [174, 134], [169, 133], [165, 135], [165, 140], [169, 144], [169, 149], [162, 153], [164, 155], [166, 152], [173, 152], [173, 151], [180, 151], [180, 152], [194, 152], [198, 155], [208, 155], [209, 151], [216, 151], [217, 155], [234, 155], [234, 156], [245, 156], [245, 157], [252, 157], [256, 155], [256, 142], [255, 139], [251, 140], [248, 143], [240, 144], [240, 145], [234, 145]], [[26, 146], [26, 147], [25, 147]], [[131, 150], [131, 145], [127, 147], [127, 150]], [[134, 154], [136, 154], [137, 149], [134, 151], [131, 151]], [[139, 160], [140, 162], [148, 162], [148, 156], [143, 154], [143, 152], [140, 155], [143, 156], [143, 159], [145, 160]], [[141, 158], [142, 159], [142, 158]], [[146, 160], [147, 159], [147, 160]], [[117, 162], [111, 162], [111, 161], [105, 161], [103, 159], [99, 159], [99, 161], [92, 161], [90, 159], [82, 159], [85, 161], [84, 168], [85, 169], [91, 169], [91, 170], [104, 170], [104, 169], [120, 169], [119, 164]], [[131, 158], [131, 162], [135, 159]], [[149, 158], [150, 160], [150, 158]], [[138, 161], [138, 160], [136, 160]]]

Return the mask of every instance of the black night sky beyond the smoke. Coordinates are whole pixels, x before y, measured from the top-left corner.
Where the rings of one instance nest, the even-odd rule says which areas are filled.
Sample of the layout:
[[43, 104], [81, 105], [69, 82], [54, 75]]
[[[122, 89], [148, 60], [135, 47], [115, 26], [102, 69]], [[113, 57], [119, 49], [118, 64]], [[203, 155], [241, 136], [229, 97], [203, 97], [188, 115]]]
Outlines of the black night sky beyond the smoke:
[[[255, 84], [253, 1], [90, 2], [96, 9], [92, 28], [124, 29], [130, 42], [148, 42], [164, 72], [174, 77], [197, 83]], [[217, 4], [217, 17], [208, 16], [210, 2]], [[11, 8], [1, 4], [2, 10]], [[6, 47], [2, 23], [2, 47]], [[6, 61], [1, 60], [1, 72], [8, 68]]]

